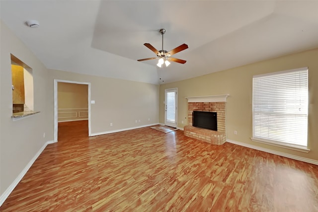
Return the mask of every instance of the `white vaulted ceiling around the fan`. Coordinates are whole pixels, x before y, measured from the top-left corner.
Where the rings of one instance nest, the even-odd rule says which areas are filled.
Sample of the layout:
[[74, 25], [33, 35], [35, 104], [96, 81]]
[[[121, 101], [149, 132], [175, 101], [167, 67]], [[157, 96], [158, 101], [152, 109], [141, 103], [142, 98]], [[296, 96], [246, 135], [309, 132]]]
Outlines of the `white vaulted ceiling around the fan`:
[[[0, 17], [49, 69], [155, 84], [318, 47], [318, 0], [0, 0]], [[160, 28], [186, 64], [137, 62]]]

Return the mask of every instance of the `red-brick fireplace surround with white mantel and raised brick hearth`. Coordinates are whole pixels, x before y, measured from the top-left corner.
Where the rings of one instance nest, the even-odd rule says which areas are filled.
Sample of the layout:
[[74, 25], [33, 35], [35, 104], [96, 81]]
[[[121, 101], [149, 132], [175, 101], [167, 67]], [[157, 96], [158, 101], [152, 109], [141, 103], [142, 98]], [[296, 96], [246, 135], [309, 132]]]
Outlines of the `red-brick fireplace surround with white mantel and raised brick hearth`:
[[[188, 125], [184, 135], [199, 141], [221, 145], [226, 141], [226, 95], [186, 97], [188, 99]], [[218, 131], [192, 126], [192, 112], [207, 111], [217, 113]]]

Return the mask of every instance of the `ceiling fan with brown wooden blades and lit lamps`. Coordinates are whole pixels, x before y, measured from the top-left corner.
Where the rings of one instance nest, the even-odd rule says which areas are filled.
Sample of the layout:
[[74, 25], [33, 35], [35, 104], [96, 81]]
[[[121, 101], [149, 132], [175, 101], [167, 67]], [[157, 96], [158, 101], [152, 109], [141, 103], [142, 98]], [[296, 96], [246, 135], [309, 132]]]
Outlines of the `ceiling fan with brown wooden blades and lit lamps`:
[[162, 35], [162, 49], [161, 50], [158, 51], [151, 44], [144, 43], [144, 45], [147, 48], [149, 48], [151, 51], [153, 51], [157, 55], [157, 58], [145, 58], [145, 59], [140, 59], [138, 61], [147, 61], [147, 60], [154, 60], [154, 59], [158, 59], [159, 58], [157, 66], [160, 67], [160, 68], [161, 68], [161, 65], [163, 63], [165, 64], [166, 67], [169, 66], [170, 65], [169, 61], [180, 63], [180, 64], [185, 64], [186, 61], [181, 60], [181, 59], [177, 59], [177, 58], [171, 58], [170, 56], [187, 49], [188, 45], [182, 44], [182, 45], [172, 49], [171, 51], [167, 52], [167, 51], [163, 50], [163, 34], [165, 33], [165, 29], [160, 29], [159, 32]]

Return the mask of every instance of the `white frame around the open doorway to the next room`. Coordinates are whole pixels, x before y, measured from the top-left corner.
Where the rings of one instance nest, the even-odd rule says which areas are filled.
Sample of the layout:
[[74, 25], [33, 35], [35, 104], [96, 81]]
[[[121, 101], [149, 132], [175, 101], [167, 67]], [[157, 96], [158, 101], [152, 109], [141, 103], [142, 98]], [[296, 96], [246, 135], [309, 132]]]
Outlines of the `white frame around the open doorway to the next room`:
[[87, 100], [87, 102], [88, 102], [88, 136], [91, 136], [91, 130], [90, 130], [90, 82], [78, 82], [78, 81], [54, 79], [54, 142], [58, 141], [58, 82], [88, 85], [88, 100]]

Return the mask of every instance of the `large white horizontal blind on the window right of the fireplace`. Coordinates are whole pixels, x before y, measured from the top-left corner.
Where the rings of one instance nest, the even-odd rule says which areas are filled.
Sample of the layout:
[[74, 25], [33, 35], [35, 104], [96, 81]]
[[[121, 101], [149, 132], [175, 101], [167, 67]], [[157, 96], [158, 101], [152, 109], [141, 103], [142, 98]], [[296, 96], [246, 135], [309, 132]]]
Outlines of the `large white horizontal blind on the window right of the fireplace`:
[[308, 68], [253, 76], [253, 139], [307, 146]]

